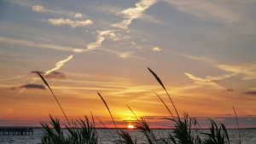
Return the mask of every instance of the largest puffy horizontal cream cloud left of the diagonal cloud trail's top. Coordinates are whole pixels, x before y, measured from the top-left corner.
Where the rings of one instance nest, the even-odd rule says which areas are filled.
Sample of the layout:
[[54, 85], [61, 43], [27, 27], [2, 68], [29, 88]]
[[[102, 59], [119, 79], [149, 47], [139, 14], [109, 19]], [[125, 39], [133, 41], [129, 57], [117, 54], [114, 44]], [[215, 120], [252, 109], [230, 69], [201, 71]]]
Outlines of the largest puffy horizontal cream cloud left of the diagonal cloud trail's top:
[[91, 25], [93, 22], [91, 20], [70, 20], [70, 19], [43, 19], [42, 21], [49, 22], [49, 24], [55, 25], [55, 26], [62, 26], [62, 25], [68, 25], [73, 28], [81, 26], [88, 26]]

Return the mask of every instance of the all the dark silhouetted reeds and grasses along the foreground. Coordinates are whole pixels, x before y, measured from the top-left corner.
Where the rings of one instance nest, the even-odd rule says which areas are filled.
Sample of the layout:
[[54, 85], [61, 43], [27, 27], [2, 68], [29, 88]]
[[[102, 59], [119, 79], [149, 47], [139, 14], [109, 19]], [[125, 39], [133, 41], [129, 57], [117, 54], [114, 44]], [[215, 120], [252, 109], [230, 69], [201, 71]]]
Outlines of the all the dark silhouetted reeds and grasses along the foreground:
[[[134, 114], [135, 118], [137, 118], [136, 127], [137, 129], [143, 133], [146, 140], [144, 143], [148, 144], [227, 144], [230, 143], [229, 134], [224, 126], [224, 124], [216, 124], [212, 119], [209, 119], [211, 122], [211, 126], [209, 128], [209, 132], [203, 132], [201, 129], [200, 124], [198, 124], [195, 118], [189, 117], [187, 113], [184, 113], [181, 117], [177, 112], [177, 108], [175, 107], [171, 96], [168, 94], [164, 84], [162, 84], [160, 78], [150, 69], [148, 68], [149, 72], [151, 72], [159, 82], [161, 87], [166, 91], [166, 95], [169, 97], [169, 100], [172, 103], [172, 107], [175, 110], [175, 115], [172, 114], [169, 107], [166, 106], [165, 101], [162, 101], [159, 95], [154, 93], [163, 105], [166, 107], [168, 112], [170, 113], [170, 118], [166, 118], [166, 120], [172, 121], [173, 128], [170, 130], [166, 137], [160, 137], [155, 135], [153, 130], [147, 124], [147, 121], [144, 118], [137, 118], [136, 114], [132, 111], [131, 107], [129, 109]], [[40, 78], [44, 81], [49, 87], [49, 84], [45, 81], [42, 75], [38, 73]], [[55, 97], [52, 89], [50, 89], [52, 95]], [[154, 92], [154, 91], [153, 91]], [[103, 99], [102, 95], [98, 93], [100, 98], [102, 99], [104, 105], [107, 107], [110, 117], [113, 120], [113, 116], [108, 108], [107, 102]], [[61, 111], [63, 112], [65, 118], [67, 116], [63, 111], [59, 101], [55, 97], [55, 101], [57, 101]], [[128, 107], [128, 106], [127, 106]], [[235, 108], [234, 108], [234, 112]], [[94, 122], [94, 117], [91, 114], [91, 120], [86, 116], [84, 119], [77, 119], [70, 123], [67, 119], [67, 124], [65, 128], [68, 131], [67, 135], [64, 135], [63, 128], [61, 128], [61, 124], [58, 118], [52, 118], [50, 116], [49, 123], [40, 122], [40, 124], [44, 128], [44, 135], [42, 136], [42, 143], [43, 144], [99, 144], [102, 143], [100, 136], [97, 134], [96, 125]], [[99, 119], [100, 120], [100, 119]], [[102, 121], [101, 121], [102, 122]], [[236, 118], [237, 122], [237, 118]], [[103, 123], [102, 123], [103, 124]], [[119, 136], [119, 139], [115, 141], [116, 144], [137, 144], [137, 139], [134, 139], [129, 135], [129, 133], [125, 130], [119, 130], [116, 127], [116, 124], [113, 120], [113, 124], [116, 128], [116, 133]], [[238, 124], [237, 124], [238, 126]], [[239, 135], [240, 137], [240, 135]], [[241, 138], [237, 143], [241, 144]]]

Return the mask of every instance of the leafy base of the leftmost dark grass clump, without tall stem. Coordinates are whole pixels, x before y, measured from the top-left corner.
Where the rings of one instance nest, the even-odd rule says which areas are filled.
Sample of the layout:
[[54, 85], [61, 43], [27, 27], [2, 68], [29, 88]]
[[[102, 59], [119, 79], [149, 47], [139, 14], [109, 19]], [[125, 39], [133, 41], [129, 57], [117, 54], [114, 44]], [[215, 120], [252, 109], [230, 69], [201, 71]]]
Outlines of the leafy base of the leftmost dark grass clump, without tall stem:
[[49, 117], [51, 119], [49, 123], [40, 122], [44, 128], [44, 135], [41, 138], [42, 144], [98, 144], [94, 123], [90, 123], [87, 117], [84, 120], [76, 120], [73, 127], [66, 125], [67, 135], [64, 135], [60, 120]]

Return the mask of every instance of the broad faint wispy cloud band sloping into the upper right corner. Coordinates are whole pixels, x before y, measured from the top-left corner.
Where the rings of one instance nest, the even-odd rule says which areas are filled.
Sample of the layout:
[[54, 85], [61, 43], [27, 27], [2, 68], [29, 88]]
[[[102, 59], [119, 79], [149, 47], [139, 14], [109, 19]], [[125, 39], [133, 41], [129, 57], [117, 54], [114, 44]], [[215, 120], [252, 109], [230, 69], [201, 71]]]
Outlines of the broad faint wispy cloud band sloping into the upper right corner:
[[193, 14], [196, 17], [219, 21], [228, 26], [235, 27], [236, 30], [243, 33], [254, 33], [256, 32], [255, 21], [248, 18], [245, 9], [242, 9], [243, 13], [240, 13], [236, 7], [241, 7], [241, 5], [249, 5], [244, 1], [236, 1], [232, 4], [230, 3], [218, 3], [218, 1], [204, 1], [204, 0], [164, 0], [170, 3], [175, 9], [187, 13]]

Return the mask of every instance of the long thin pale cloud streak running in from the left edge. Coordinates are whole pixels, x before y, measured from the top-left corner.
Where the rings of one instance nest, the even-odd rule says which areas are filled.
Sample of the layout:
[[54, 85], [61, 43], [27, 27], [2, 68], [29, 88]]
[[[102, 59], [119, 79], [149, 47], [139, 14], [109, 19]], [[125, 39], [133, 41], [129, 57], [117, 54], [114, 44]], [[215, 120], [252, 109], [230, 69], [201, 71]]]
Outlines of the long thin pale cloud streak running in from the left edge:
[[55, 49], [55, 50], [63, 50], [63, 51], [73, 51], [73, 49], [78, 49], [78, 48], [72, 48], [72, 47], [55, 45], [55, 44], [34, 43], [26, 40], [12, 39], [7, 37], [0, 37], [0, 42], [17, 44], [17, 45], [25, 45], [28, 47], [39, 47], [44, 49]]

